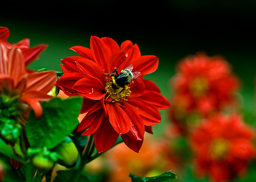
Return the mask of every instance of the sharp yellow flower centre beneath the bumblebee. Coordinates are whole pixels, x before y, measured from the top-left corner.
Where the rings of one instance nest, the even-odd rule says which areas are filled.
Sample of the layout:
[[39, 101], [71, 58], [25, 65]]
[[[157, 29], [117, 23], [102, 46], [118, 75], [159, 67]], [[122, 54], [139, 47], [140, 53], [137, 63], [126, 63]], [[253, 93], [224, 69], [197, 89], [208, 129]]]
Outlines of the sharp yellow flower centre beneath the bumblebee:
[[111, 102], [122, 102], [123, 100], [127, 100], [126, 97], [130, 96], [132, 93], [132, 91], [129, 90], [131, 87], [125, 85], [124, 88], [121, 87], [118, 89], [113, 89], [113, 79], [114, 79], [114, 76], [112, 77], [111, 80], [109, 80], [106, 83], [105, 91], [108, 93], [108, 96], [106, 99], [110, 97], [112, 99]]

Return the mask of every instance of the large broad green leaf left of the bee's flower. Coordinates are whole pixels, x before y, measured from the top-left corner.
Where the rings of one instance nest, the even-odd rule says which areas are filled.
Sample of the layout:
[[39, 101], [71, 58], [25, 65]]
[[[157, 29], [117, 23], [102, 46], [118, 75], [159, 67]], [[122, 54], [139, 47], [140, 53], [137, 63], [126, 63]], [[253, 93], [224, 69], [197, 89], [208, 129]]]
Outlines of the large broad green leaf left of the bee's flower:
[[36, 119], [31, 112], [25, 125], [31, 148], [54, 148], [79, 124], [77, 117], [82, 104], [81, 97], [53, 98], [42, 102], [43, 115]]

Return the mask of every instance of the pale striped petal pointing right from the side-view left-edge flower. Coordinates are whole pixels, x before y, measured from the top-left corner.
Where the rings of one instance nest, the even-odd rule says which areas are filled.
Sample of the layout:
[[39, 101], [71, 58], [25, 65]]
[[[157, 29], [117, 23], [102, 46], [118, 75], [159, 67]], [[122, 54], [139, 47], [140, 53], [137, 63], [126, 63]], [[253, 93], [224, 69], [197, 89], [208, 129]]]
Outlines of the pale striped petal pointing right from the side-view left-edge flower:
[[44, 91], [47, 93], [52, 90], [56, 79], [57, 75], [54, 71], [29, 74], [27, 77], [26, 91]]

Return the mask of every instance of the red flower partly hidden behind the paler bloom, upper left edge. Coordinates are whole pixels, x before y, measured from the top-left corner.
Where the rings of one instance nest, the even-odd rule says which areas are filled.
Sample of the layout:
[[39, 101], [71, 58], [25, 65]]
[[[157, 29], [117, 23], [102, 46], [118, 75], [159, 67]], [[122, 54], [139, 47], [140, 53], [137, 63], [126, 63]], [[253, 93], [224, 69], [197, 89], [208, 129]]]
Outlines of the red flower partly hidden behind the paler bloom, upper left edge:
[[23, 39], [16, 44], [10, 44], [7, 42], [9, 36], [9, 29], [5, 27], [0, 27], [0, 44], [4, 44], [8, 48], [19, 48], [23, 53], [24, 62], [26, 66], [32, 63], [34, 60], [38, 59], [38, 56], [48, 47], [47, 44], [39, 44], [37, 46], [29, 48], [30, 40], [28, 38]]

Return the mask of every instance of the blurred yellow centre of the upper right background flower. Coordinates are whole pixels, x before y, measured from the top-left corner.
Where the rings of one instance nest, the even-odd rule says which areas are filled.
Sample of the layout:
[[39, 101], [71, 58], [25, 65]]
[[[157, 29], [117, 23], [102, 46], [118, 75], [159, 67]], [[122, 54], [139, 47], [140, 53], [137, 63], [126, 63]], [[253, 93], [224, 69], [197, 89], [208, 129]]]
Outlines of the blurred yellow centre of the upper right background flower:
[[205, 95], [209, 88], [209, 82], [204, 77], [197, 77], [189, 83], [189, 91], [195, 97]]

